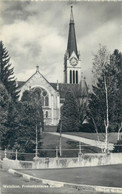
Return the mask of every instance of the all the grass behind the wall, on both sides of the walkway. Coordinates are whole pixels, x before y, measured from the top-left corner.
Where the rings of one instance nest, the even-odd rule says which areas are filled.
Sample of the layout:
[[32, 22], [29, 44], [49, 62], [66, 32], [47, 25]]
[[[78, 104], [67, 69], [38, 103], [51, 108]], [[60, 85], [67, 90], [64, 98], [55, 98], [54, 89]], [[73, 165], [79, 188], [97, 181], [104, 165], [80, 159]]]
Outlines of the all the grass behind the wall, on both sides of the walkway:
[[[96, 133], [67, 132], [66, 134], [97, 140]], [[122, 136], [122, 133], [120, 134], [120, 137], [121, 136]], [[104, 141], [103, 134], [100, 133], [99, 137], [101, 141]], [[41, 145], [41, 149], [39, 150], [39, 156], [40, 157], [55, 157], [56, 156], [56, 146], [59, 148], [59, 140], [60, 140], [59, 136], [44, 133], [42, 136], [42, 145]], [[117, 141], [117, 133], [110, 133], [109, 142], [116, 143], [116, 141]], [[77, 157], [78, 156], [79, 142], [69, 140], [63, 137], [61, 138], [61, 142], [62, 142], [62, 157]], [[83, 144], [83, 143], [81, 144], [81, 147], [82, 147], [83, 153], [101, 152], [99, 148], [92, 147], [90, 145], [87, 146], [86, 144]], [[64, 149], [67, 149], [67, 150], [64, 150]], [[75, 150], [72, 150], [72, 149], [75, 149]], [[10, 154], [8, 154], [8, 158], [10, 158], [9, 155]], [[13, 155], [15, 157], [15, 153]], [[34, 154], [32, 153], [23, 154], [23, 155], [25, 157], [25, 160], [28, 160], [28, 161], [32, 160], [34, 157]], [[1, 151], [1, 158], [3, 157], [4, 157], [4, 152]]]

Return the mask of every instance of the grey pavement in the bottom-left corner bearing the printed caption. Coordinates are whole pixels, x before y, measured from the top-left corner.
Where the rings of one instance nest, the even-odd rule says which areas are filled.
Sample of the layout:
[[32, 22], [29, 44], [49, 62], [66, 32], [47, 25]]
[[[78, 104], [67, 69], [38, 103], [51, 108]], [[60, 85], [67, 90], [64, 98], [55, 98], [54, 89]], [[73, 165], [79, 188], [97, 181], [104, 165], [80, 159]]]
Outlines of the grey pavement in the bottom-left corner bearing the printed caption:
[[[81, 194], [81, 192], [85, 192], [85, 194], [92, 193], [91, 191], [86, 190], [79, 191], [77, 188], [43, 188], [43, 184], [41, 184], [40, 182], [27, 181], [22, 177], [11, 175], [3, 170], [0, 170], [0, 177], [0, 191], [2, 194]], [[6, 186], [11, 186], [11, 188], [7, 188]], [[18, 186], [18, 188], [14, 188], [15, 186]], [[23, 186], [27, 186], [27, 188], [23, 188]], [[38, 188], [38, 186], [42, 187]], [[98, 194], [97, 192], [93, 193]]]

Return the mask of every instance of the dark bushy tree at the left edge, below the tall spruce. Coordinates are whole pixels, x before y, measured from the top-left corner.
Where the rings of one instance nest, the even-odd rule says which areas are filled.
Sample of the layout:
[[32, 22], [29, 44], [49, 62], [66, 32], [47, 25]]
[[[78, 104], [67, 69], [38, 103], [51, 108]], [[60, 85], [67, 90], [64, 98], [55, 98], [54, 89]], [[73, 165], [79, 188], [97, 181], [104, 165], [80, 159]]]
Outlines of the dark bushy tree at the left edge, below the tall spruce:
[[7, 130], [6, 122], [8, 117], [8, 106], [9, 95], [4, 85], [0, 82], [0, 142]]

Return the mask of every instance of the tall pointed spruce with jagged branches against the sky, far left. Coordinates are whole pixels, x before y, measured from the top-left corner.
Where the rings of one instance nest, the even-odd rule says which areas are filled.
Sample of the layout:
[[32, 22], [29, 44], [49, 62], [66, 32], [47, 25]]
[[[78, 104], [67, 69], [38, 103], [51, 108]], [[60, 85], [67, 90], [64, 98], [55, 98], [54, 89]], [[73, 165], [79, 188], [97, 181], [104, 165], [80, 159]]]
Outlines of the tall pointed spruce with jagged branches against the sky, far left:
[[19, 91], [14, 77], [14, 68], [11, 67], [8, 51], [2, 41], [0, 41], [0, 80], [15, 102], [18, 99]]

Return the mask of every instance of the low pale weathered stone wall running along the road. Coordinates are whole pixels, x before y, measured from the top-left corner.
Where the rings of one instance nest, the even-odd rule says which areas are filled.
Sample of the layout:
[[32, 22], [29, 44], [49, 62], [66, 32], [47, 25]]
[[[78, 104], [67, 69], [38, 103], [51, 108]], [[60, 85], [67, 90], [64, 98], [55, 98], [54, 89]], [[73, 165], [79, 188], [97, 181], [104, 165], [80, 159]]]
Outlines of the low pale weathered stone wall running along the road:
[[4, 169], [72, 168], [122, 164], [122, 153], [84, 154], [78, 158], [38, 158], [35, 161], [2, 160]]

